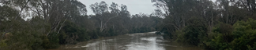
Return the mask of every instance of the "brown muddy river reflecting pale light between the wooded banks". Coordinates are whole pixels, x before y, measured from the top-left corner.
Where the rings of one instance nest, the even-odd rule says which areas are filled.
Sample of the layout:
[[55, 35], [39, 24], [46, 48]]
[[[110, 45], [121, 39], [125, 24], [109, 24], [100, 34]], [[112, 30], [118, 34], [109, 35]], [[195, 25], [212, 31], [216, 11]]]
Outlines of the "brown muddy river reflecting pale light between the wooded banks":
[[166, 41], [161, 35], [154, 33], [104, 37], [80, 42], [77, 45], [62, 45], [60, 48], [48, 50], [202, 50], [198, 47], [178, 46], [177, 43]]

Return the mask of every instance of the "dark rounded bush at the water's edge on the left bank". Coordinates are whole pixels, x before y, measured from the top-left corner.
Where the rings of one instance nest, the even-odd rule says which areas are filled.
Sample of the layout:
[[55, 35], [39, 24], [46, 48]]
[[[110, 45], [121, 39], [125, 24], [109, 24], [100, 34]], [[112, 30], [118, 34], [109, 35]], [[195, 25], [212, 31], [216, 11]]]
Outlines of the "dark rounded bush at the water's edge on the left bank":
[[77, 41], [88, 41], [88, 32], [77, 24], [66, 21], [59, 36], [60, 44], [76, 44]]

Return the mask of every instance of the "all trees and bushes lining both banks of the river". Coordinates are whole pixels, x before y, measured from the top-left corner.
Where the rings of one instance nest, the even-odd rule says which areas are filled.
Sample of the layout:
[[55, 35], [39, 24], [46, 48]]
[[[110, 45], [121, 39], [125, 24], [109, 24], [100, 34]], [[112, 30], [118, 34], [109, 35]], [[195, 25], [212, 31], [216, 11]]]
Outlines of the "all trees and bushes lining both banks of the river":
[[1, 0], [0, 49], [58, 48], [100, 37], [158, 30], [164, 39], [209, 50], [255, 50], [255, 0], [151, 0], [154, 13], [77, 0]]

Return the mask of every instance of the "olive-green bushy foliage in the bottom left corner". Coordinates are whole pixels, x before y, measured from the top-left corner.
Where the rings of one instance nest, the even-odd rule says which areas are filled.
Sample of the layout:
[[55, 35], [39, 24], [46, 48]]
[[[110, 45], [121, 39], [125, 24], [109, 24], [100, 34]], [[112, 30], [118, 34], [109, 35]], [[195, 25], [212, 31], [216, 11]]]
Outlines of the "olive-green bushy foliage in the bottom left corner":
[[[12, 27], [6, 30], [11, 32], [6, 34], [6, 49], [41, 49], [43, 42], [40, 32], [29, 27], [28, 23], [22, 21], [11, 21]], [[22, 30], [21, 30], [22, 29]], [[13, 48], [16, 47], [16, 48]]]

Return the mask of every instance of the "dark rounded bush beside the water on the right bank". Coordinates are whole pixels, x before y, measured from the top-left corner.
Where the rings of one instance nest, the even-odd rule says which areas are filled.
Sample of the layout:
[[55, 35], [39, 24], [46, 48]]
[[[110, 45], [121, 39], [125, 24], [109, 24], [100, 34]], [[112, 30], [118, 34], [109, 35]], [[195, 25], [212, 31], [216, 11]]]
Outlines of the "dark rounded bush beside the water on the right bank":
[[199, 45], [202, 43], [203, 38], [207, 35], [207, 26], [205, 22], [198, 18], [192, 18], [189, 20], [190, 25], [183, 28], [182, 32], [176, 32], [178, 35], [177, 42], [185, 43], [188, 45]]

